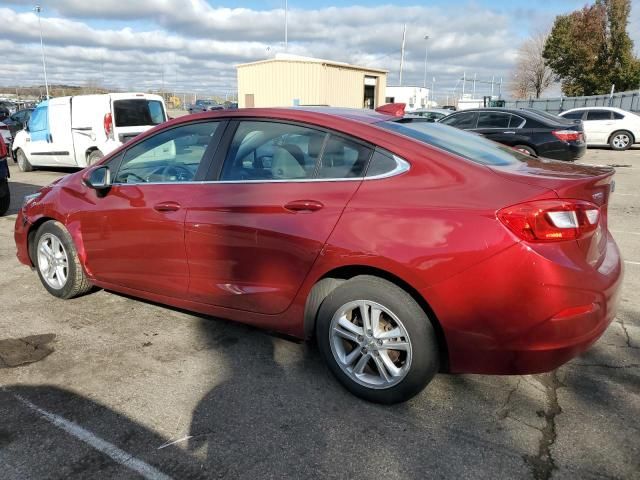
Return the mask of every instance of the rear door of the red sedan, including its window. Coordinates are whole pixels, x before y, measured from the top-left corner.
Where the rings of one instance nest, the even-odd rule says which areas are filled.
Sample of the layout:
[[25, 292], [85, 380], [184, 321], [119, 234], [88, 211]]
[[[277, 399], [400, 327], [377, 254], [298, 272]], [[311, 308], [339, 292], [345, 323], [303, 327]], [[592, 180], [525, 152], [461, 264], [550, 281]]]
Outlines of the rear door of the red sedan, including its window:
[[292, 123], [229, 128], [216, 180], [198, 189], [187, 212], [189, 297], [280, 313], [358, 189], [372, 150]]

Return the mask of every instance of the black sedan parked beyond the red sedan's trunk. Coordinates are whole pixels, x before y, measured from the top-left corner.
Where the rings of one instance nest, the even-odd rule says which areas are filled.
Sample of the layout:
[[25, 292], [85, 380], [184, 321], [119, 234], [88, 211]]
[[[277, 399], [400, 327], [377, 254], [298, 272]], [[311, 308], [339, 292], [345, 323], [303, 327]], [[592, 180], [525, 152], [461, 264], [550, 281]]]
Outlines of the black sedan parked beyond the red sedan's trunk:
[[551, 119], [531, 110], [473, 108], [440, 123], [479, 133], [530, 155], [574, 161], [586, 151], [582, 123]]

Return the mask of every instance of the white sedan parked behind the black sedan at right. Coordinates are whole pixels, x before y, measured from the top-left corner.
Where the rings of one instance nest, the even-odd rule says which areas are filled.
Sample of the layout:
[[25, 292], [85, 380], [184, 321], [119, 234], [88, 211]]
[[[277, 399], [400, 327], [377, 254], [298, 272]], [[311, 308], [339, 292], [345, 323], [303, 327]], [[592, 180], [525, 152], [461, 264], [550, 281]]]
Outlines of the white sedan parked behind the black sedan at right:
[[560, 116], [582, 120], [589, 147], [609, 145], [613, 150], [626, 150], [634, 143], [640, 143], [640, 115], [621, 108], [572, 108]]

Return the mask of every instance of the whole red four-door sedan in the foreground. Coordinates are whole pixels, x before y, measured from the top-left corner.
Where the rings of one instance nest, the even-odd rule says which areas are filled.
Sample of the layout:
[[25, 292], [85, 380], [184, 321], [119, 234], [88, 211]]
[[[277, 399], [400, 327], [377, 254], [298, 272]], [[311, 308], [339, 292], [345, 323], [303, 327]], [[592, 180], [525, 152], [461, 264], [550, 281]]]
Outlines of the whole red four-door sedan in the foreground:
[[25, 199], [18, 258], [92, 286], [315, 337], [368, 400], [438, 371], [548, 371], [615, 316], [613, 169], [343, 109], [165, 123]]

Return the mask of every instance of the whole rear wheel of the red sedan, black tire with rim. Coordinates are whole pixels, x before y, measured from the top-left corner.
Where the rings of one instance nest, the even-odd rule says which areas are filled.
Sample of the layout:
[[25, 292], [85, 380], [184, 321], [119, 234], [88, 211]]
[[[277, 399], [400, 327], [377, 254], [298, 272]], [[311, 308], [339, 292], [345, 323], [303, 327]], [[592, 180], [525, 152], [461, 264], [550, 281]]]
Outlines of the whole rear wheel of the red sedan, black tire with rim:
[[[370, 330], [363, 328], [363, 310], [371, 320], [378, 316], [378, 328], [374, 322]], [[382, 313], [372, 317], [376, 310]], [[439, 368], [438, 342], [427, 314], [406, 291], [378, 277], [354, 277], [335, 288], [320, 306], [316, 339], [340, 383], [370, 402], [409, 400]]]

